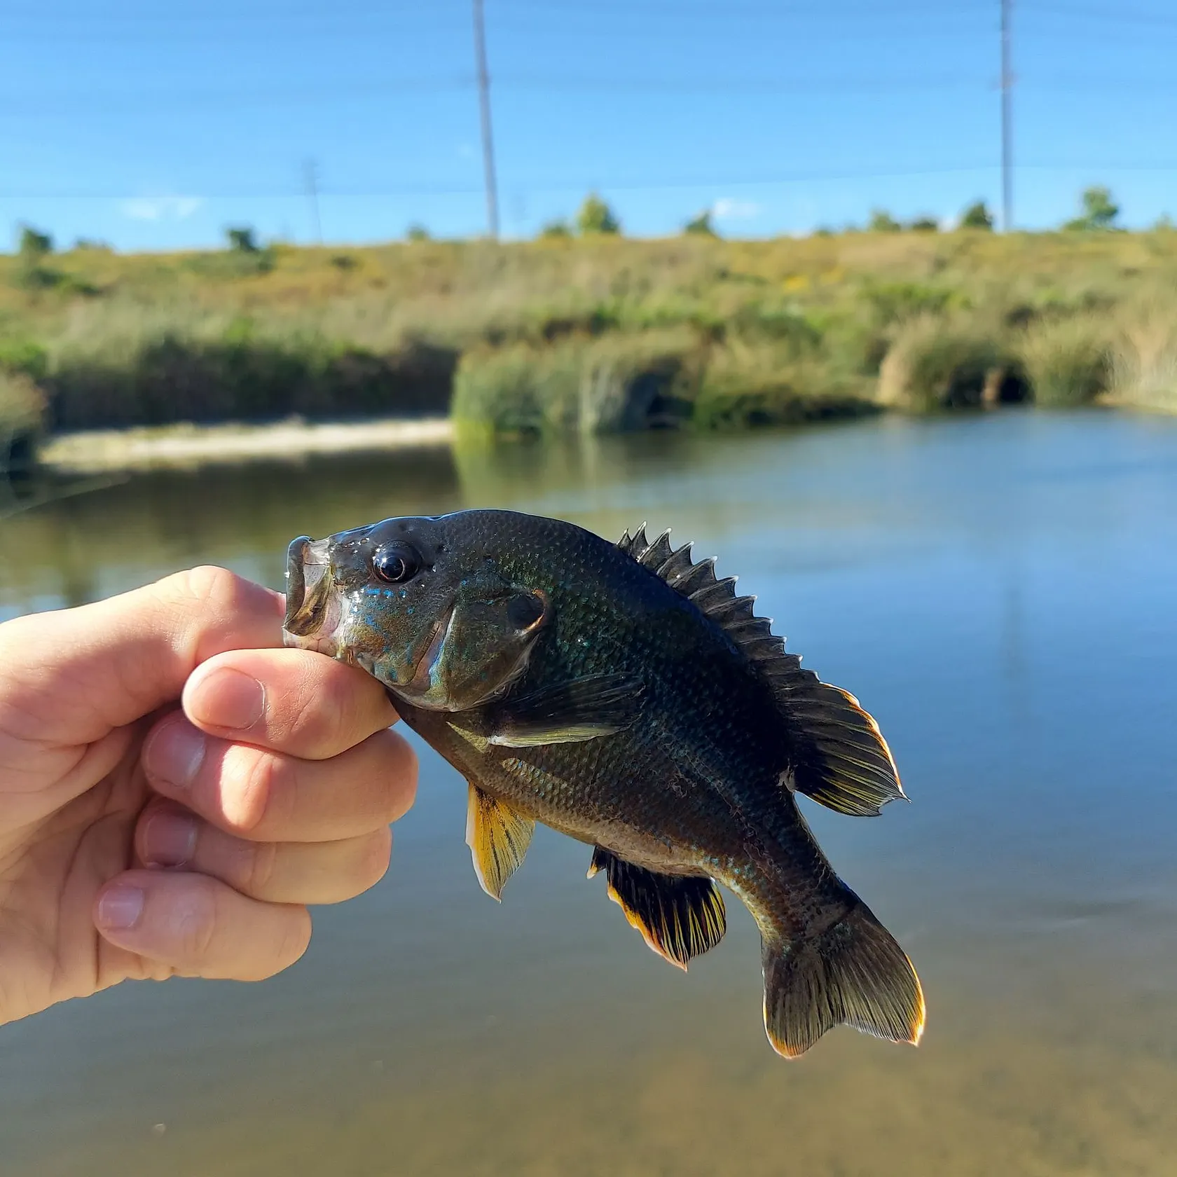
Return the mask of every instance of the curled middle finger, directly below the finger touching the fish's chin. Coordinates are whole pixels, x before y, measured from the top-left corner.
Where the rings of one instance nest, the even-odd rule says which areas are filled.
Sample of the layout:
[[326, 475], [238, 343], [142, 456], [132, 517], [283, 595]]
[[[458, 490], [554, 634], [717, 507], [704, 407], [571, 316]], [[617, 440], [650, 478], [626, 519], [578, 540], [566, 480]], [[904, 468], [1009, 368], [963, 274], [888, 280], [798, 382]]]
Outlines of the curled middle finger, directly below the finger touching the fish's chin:
[[144, 744], [155, 792], [252, 842], [330, 842], [403, 817], [417, 792], [417, 757], [387, 729], [330, 760], [301, 760], [217, 739], [179, 712]]

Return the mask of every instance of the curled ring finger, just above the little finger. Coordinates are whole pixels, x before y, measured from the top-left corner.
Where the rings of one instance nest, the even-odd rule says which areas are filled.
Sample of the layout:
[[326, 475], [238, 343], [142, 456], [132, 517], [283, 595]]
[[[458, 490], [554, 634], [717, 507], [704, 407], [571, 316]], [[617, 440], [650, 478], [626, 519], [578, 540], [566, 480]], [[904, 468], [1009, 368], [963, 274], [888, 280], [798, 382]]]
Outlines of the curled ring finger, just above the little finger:
[[144, 866], [184, 867], [266, 903], [341, 903], [388, 869], [387, 826], [335, 842], [247, 842], [172, 802], [153, 800], [135, 826]]

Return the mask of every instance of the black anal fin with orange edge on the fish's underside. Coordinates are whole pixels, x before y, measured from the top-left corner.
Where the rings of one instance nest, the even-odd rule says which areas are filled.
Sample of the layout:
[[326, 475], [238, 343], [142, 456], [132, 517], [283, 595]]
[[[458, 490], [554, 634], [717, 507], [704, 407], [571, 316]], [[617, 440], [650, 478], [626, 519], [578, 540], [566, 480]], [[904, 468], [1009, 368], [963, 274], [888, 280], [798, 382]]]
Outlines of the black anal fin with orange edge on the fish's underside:
[[724, 897], [709, 878], [657, 875], [594, 846], [588, 878], [605, 871], [609, 897], [660, 957], [686, 970], [691, 957], [713, 949], [727, 930]]

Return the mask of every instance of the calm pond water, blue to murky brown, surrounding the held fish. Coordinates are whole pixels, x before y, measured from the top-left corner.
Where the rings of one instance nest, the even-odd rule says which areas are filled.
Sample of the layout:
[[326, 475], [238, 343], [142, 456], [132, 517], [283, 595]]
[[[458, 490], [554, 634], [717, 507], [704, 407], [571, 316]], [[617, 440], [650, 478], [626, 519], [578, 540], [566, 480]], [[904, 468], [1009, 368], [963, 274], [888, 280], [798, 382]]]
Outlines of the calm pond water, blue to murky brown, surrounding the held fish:
[[812, 811], [915, 958], [918, 1051], [760, 1026], [751, 919], [683, 976], [541, 831], [505, 903], [427, 750], [388, 878], [262, 985], [0, 1031], [5, 1177], [1177, 1172], [1177, 421], [1009, 413], [138, 478], [0, 523], [0, 617], [498, 505], [720, 553], [911, 806]]

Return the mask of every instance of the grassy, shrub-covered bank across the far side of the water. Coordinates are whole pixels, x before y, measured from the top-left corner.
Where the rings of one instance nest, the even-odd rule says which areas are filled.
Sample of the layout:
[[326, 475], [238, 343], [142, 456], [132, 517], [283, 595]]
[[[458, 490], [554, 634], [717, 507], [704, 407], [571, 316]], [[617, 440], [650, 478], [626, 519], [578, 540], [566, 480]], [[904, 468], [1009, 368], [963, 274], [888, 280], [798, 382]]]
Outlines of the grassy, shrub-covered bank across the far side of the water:
[[4, 257], [0, 372], [9, 432], [41, 401], [56, 431], [451, 407], [485, 432], [1173, 410], [1177, 233]]

